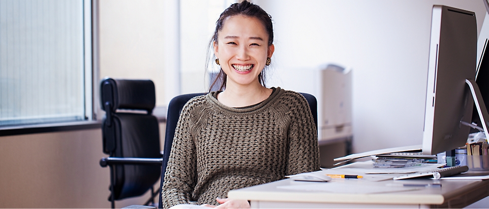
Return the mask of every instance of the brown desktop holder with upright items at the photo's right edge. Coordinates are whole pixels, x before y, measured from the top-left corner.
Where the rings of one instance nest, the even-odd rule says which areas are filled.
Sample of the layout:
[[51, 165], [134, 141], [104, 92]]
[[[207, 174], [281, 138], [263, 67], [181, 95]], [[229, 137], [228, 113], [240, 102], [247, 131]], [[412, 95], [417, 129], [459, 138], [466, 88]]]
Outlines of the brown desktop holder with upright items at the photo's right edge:
[[489, 144], [477, 142], [467, 145], [467, 166], [472, 170], [489, 170]]

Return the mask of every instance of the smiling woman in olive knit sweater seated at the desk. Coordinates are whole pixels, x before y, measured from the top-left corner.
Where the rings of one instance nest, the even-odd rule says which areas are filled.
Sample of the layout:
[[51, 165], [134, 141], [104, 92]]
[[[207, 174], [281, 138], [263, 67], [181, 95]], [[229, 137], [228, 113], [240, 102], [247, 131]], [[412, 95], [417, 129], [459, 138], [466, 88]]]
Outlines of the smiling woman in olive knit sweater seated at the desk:
[[306, 99], [264, 86], [262, 71], [275, 50], [270, 15], [247, 1], [232, 4], [217, 20], [211, 43], [224, 90], [183, 107], [162, 187], [164, 208], [249, 208], [247, 201], [220, 198], [231, 189], [319, 170]]

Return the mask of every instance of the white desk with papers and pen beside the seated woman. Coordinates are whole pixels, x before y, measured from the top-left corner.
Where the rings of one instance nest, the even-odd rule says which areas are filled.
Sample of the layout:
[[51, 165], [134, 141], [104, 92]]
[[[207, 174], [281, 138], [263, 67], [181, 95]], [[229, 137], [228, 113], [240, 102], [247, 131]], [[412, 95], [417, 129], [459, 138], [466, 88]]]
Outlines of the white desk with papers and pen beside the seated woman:
[[[393, 186], [402, 183], [441, 183], [441, 187]], [[305, 191], [277, 186], [307, 185], [285, 179], [232, 190], [228, 197], [249, 200], [251, 208], [463, 208], [489, 196], [489, 180], [386, 180], [334, 179], [327, 184], [333, 191]], [[367, 187], [397, 187], [416, 190], [362, 193]], [[345, 192], [346, 190], [346, 192]], [[375, 190], [375, 189], [373, 189]], [[351, 191], [351, 192], [348, 192]]]

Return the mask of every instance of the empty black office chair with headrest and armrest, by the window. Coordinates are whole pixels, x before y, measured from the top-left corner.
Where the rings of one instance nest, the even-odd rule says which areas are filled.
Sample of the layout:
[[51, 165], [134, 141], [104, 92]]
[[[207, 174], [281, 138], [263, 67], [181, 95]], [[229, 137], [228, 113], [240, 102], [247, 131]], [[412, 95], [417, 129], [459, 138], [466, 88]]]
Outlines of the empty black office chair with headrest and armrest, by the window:
[[152, 115], [155, 105], [151, 80], [104, 78], [100, 101], [106, 115], [102, 120], [103, 152], [110, 157], [100, 166], [110, 167], [109, 201], [143, 195], [149, 189], [153, 202], [159, 190], [153, 185], [160, 178], [161, 154], [158, 120]]

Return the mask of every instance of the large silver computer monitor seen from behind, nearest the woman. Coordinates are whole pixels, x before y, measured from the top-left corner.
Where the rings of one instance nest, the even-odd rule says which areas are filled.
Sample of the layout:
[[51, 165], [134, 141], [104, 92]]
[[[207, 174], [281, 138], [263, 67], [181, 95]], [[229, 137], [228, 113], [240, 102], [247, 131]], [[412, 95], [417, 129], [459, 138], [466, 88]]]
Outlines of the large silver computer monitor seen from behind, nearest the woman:
[[474, 101], [465, 79], [475, 79], [475, 13], [434, 5], [428, 60], [423, 154], [435, 155], [465, 145]]

